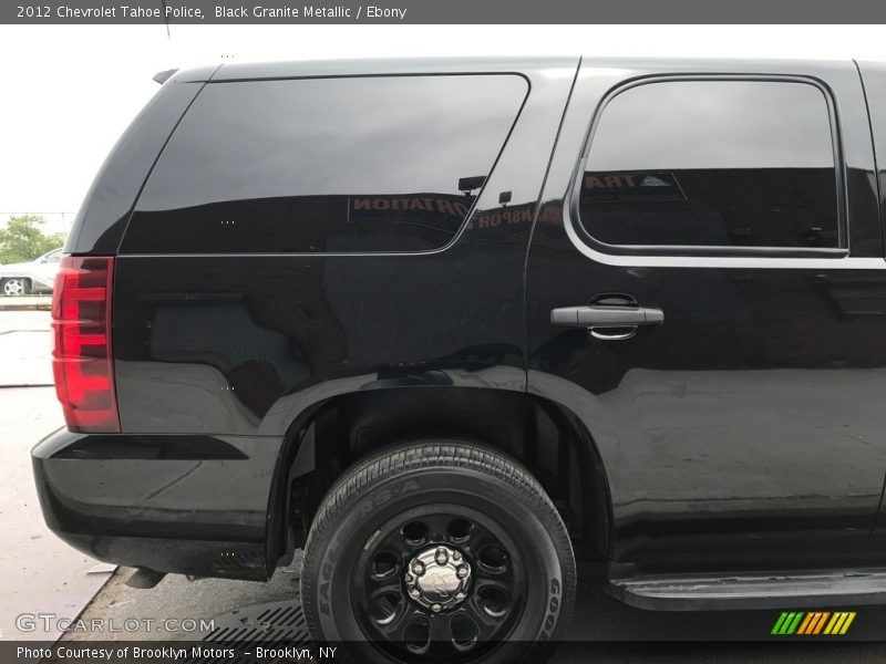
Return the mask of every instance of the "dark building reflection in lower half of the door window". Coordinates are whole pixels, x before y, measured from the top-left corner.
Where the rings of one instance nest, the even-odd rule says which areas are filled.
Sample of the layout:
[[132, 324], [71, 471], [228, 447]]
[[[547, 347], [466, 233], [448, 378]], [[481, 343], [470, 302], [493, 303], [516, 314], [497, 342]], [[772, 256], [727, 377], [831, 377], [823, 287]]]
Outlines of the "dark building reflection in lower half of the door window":
[[607, 245], [837, 247], [831, 168], [585, 173], [580, 217]]

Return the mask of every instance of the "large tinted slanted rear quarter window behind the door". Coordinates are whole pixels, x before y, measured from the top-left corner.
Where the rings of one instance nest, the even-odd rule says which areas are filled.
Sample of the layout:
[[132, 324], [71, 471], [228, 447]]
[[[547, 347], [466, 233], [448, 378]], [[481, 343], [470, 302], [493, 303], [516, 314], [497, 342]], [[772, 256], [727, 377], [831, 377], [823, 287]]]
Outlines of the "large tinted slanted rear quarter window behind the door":
[[122, 250], [443, 247], [526, 94], [517, 75], [209, 83], [148, 177]]

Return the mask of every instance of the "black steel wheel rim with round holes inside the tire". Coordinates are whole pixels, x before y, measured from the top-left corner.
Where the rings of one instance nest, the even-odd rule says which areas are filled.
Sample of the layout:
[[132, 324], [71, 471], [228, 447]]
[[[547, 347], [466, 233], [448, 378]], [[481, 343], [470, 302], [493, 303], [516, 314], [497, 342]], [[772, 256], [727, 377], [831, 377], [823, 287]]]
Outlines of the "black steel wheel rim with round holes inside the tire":
[[[413, 573], [416, 560], [426, 563], [421, 577]], [[468, 572], [453, 590], [460, 567]], [[374, 530], [354, 566], [351, 598], [367, 640], [389, 656], [455, 663], [507, 640], [527, 585], [507, 530], [476, 509], [447, 504], [406, 510]]]

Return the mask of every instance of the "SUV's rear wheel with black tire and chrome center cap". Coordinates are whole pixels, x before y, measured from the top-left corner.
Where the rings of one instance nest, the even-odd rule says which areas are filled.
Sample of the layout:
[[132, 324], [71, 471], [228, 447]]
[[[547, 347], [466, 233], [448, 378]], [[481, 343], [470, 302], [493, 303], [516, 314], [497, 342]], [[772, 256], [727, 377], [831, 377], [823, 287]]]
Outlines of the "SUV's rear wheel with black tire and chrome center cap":
[[544, 661], [575, 587], [569, 537], [535, 478], [457, 440], [384, 449], [346, 473], [301, 572], [311, 636], [361, 663]]

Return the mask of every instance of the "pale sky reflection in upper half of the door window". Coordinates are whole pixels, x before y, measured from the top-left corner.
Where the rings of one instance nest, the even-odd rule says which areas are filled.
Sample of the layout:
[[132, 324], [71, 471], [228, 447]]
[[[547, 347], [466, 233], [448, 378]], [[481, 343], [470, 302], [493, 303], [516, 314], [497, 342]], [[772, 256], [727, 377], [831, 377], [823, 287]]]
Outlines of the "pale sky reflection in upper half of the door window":
[[602, 112], [588, 170], [826, 167], [827, 104], [814, 85], [680, 81], [631, 87]]

